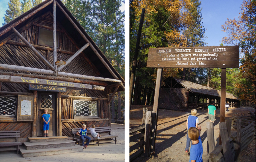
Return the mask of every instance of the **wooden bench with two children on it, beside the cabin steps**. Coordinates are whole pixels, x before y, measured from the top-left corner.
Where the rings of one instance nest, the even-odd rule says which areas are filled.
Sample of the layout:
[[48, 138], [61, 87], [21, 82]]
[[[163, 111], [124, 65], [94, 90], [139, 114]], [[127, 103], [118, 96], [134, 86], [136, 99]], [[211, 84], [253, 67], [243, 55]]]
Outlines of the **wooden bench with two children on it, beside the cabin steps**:
[[[72, 128], [72, 134], [74, 135], [74, 140], [76, 142], [78, 142], [80, 144], [80, 141], [82, 142], [82, 140], [80, 139], [80, 136], [76, 135], [76, 133], [78, 132], [78, 130], [80, 130], [82, 128]], [[116, 143], [116, 138], [118, 137], [117, 135], [111, 135], [111, 127], [96, 127], [95, 129], [96, 133], [99, 133], [101, 135], [101, 139], [98, 139], [98, 137], [92, 137], [91, 136], [91, 132], [88, 130], [87, 131], [87, 136], [91, 137], [91, 141], [90, 144], [95, 144], [94, 140], [97, 140], [96, 143], [98, 143], [98, 146], [100, 145], [100, 140], [102, 139], [109, 139], [108, 141], [101, 141], [101, 143], [107, 143], [107, 142], [112, 142], [115, 141]], [[101, 132], [107, 132], [107, 133], [103, 133], [101, 134]], [[114, 140], [112, 138], [115, 138]], [[86, 141], [86, 140], [85, 140]]]

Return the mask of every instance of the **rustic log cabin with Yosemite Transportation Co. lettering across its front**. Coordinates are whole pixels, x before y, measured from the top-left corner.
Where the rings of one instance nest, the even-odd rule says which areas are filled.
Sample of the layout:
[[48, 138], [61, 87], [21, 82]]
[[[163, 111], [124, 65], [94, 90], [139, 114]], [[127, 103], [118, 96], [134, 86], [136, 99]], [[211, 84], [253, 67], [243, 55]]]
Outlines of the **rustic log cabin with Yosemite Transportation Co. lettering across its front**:
[[110, 126], [109, 104], [124, 80], [60, 0], [0, 30], [1, 130], [20, 130], [21, 142], [41, 137], [45, 108], [49, 136], [72, 139], [71, 129], [82, 124]]

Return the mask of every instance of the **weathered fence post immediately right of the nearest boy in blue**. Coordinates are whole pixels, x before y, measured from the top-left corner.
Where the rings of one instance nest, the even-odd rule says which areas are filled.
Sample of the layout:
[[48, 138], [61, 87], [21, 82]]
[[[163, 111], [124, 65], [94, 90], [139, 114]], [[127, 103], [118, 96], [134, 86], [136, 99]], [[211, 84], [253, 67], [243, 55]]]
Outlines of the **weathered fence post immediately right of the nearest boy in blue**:
[[207, 133], [207, 155], [208, 155], [208, 160], [210, 161], [210, 153], [215, 149], [213, 122], [206, 123], [206, 133]]

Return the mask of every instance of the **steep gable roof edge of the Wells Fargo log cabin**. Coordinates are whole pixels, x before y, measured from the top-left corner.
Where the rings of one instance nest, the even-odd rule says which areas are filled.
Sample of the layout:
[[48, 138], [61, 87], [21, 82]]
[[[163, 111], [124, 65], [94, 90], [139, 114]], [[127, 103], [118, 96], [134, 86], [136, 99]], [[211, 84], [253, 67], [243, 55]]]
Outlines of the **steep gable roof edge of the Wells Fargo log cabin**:
[[[53, 0], [46, 0], [40, 3], [39, 5], [35, 6], [34, 8], [28, 10], [24, 14], [18, 16], [17, 18], [10, 21], [9, 23], [5, 24], [3, 27], [1, 27], [0, 28], [1, 41], [13, 33], [11, 30], [12, 27], [15, 27], [18, 30], [19, 28], [25, 26], [28, 22], [40, 17], [46, 12], [48, 11], [52, 12], [52, 2]], [[119, 79], [123, 83], [125, 83], [124, 79], [119, 75], [116, 69], [114, 69], [112, 64], [108, 61], [107, 57], [102, 53], [102, 51], [98, 48], [98, 46], [91, 39], [91, 37], [86, 33], [85, 29], [79, 24], [79, 22], [76, 21], [75, 17], [69, 12], [69, 10], [64, 6], [64, 4], [60, 0], [56, 0], [56, 3], [58, 3], [58, 5], [62, 8], [62, 10], [66, 14], [65, 15], [64, 12], [60, 9], [60, 7], [56, 5], [56, 19], [65, 28], [65, 30], [72, 37], [72, 39], [75, 40], [77, 45], [79, 45], [81, 48], [86, 43], [88, 43], [84, 39], [84, 37], [79, 33], [78, 30], [80, 30], [82, 34], [85, 36], [85, 38], [90, 42], [90, 44], [96, 50], [96, 51], [93, 51], [94, 49], [88, 46], [88, 48], [84, 50], [84, 53], [89, 58], [89, 60], [94, 64], [96, 69], [99, 70], [101, 77]], [[73, 22], [71, 22], [67, 17], [69, 17], [69, 19], [71, 19]], [[78, 30], [74, 26], [77, 26]], [[99, 55], [96, 55], [96, 52]], [[106, 66], [108, 66], [109, 69], [107, 69]], [[121, 90], [122, 88], [120, 86], [118, 91], [121, 91]]]

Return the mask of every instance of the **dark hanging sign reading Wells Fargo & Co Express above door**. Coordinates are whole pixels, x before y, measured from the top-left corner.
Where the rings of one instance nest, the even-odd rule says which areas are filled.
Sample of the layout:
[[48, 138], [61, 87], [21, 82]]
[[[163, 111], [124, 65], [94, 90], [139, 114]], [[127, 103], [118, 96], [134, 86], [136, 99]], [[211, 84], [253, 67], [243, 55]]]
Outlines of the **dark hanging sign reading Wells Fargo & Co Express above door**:
[[32, 91], [47, 91], [47, 92], [66, 92], [66, 87], [58, 87], [58, 86], [44, 86], [44, 85], [34, 85], [29, 84], [28, 89]]

